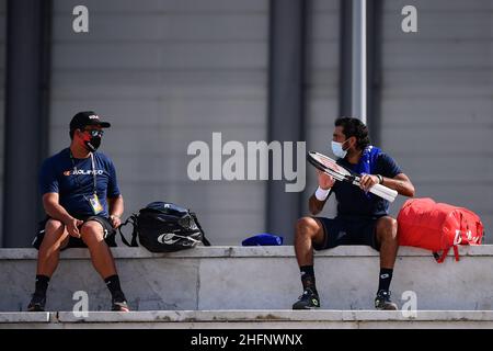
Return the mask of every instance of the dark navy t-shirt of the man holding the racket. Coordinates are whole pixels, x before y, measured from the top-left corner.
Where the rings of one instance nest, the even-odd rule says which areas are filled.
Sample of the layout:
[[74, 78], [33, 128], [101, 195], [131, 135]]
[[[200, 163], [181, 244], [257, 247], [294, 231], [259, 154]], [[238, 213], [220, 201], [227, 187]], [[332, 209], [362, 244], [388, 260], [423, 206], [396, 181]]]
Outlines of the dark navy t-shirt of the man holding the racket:
[[[355, 171], [357, 165], [352, 165], [345, 159], [339, 159], [337, 163]], [[385, 152], [377, 157], [372, 174], [386, 178], [394, 178], [402, 173], [395, 161]], [[337, 200], [337, 217], [381, 217], [389, 213], [389, 202], [375, 194], [366, 194], [359, 186], [347, 182], [335, 182], [332, 192]]]

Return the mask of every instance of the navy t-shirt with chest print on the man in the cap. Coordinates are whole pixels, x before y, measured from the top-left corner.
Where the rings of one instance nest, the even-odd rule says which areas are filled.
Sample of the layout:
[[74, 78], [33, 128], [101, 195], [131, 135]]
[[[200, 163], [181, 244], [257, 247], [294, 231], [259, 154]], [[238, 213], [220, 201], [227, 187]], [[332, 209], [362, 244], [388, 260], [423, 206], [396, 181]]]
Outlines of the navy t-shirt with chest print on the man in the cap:
[[[108, 216], [106, 197], [117, 197], [119, 193], [116, 170], [112, 160], [101, 154], [93, 152], [96, 174], [96, 193], [103, 212], [100, 216]], [[77, 172], [74, 173], [76, 166]], [[39, 190], [42, 195], [58, 193], [60, 205], [72, 216], [94, 215], [89, 197], [94, 193], [91, 157], [70, 158], [70, 149], [47, 158], [39, 172]]]

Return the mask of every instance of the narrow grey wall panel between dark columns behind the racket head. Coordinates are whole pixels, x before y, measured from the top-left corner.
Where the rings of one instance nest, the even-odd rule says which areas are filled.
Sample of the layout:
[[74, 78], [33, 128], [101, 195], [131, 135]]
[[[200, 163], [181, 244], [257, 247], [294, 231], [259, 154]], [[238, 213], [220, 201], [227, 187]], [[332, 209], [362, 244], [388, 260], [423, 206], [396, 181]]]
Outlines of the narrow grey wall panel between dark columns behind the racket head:
[[[331, 152], [332, 132], [339, 113], [340, 21], [339, 0], [312, 1], [307, 42], [307, 150]], [[316, 189], [314, 168], [307, 163], [306, 214], [308, 199]], [[334, 210], [330, 200], [323, 215], [333, 216]]]

